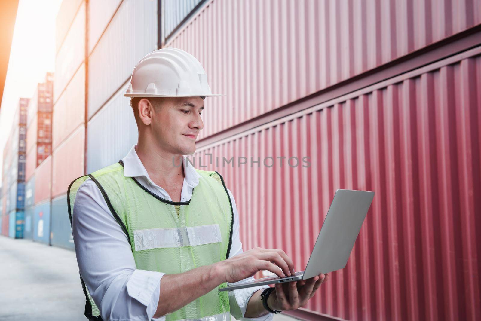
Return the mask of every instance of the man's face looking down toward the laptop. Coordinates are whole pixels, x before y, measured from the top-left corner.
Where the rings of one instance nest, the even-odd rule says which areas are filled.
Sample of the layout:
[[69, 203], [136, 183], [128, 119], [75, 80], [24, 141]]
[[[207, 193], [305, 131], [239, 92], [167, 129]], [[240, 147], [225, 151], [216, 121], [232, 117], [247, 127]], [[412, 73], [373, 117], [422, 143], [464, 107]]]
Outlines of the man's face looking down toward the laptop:
[[200, 97], [166, 97], [152, 99], [152, 131], [164, 150], [177, 155], [195, 152], [195, 140], [204, 127]]

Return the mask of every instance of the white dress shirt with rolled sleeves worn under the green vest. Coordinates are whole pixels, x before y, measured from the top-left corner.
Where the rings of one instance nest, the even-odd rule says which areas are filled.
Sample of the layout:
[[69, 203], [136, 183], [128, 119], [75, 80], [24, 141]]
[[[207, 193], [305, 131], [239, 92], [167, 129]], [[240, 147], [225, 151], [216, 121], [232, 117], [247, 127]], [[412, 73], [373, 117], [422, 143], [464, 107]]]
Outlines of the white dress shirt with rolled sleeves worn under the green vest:
[[[134, 145], [124, 162], [124, 176], [135, 177], [155, 195], [172, 201], [164, 188], [155, 185], [137, 156]], [[181, 202], [189, 201], [192, 189], [202, 179], [182, 158], [185, 178]], [[232, 245], [229, 258], [242, 253], [239, 237], [239, 213], [230, 190], [234, 214]], [[157, 310], [161, 279], [165, 273], [136, 268], [128, 236], [115, 220], [97, 185], [89, 178], [78, 189], [72, 214], [72, 230], [79, 271], [90, 295], [100, 309], [104, 321], [165, 320], [152, 318]], [[251, 277], [250, 279], [253, 279]], [[230, 313], [237, 320], [272, 320], [268, 313], [259, 318], [244, 318], [247, 303], [253, 293], [264, 286], [230, 291]], [[188, 291], [189, 289], [186, 289]], [[162, 298], [160, 298], [162, 299]]]

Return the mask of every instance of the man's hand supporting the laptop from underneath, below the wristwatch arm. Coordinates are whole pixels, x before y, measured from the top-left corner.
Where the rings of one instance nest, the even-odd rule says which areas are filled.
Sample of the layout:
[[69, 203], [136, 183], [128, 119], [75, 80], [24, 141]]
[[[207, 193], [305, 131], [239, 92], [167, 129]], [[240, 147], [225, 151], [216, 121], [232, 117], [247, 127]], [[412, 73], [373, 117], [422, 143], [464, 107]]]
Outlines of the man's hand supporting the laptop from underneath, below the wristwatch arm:
[[329, 275], [326, 273], [307, 280], [276, 283], [276, 291], [272, 291], [269, 295], [267, 306], [278, 311], [302, 308], [314, 296], [321, 284], [327, 280], [329, 280]]

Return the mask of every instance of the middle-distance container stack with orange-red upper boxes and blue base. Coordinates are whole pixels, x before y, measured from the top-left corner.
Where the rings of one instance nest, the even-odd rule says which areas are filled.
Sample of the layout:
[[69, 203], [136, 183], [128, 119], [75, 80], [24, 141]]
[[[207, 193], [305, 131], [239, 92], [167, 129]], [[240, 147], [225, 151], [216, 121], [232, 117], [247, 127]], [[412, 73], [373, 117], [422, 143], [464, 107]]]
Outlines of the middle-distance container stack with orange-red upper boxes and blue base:
[[53, 74], [38, 84], [28, 106], [25, 238], [49, 244]]

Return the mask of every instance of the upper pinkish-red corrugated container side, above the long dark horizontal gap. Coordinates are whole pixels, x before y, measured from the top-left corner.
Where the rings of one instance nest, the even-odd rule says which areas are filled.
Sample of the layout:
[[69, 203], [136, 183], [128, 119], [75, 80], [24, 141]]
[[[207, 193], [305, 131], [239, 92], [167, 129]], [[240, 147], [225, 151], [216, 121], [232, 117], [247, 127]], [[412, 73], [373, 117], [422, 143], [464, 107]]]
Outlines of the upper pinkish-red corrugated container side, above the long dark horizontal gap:
[[199, 139], [481, 23], [481, 2], [214, 0], [166, 43], [213, 92]]

